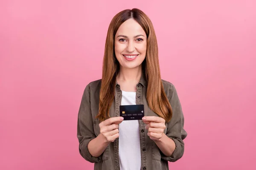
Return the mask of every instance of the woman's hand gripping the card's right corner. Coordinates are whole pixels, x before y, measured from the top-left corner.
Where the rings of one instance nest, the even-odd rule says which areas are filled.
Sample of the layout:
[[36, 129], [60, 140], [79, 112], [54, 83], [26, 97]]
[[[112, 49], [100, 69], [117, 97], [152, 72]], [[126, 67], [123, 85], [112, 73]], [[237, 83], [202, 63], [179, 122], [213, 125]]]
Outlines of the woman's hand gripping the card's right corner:
[[166, 128], [165, 119], [157, 116], [145, 116], [142, 118], [148, 129], [148, 136], [154, 141], [160, 141]]

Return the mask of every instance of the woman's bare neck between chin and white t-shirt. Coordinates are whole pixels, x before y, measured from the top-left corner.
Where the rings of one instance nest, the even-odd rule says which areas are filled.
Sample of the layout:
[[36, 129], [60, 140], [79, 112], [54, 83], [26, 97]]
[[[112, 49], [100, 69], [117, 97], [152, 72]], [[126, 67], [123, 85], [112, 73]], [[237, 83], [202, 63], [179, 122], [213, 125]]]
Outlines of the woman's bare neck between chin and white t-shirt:
[[134, 82], [138, 83], [142, 74], [142, 66], [137, 68], [123, 68], [120, 66], [119, 73], [116, 77], [118, 82]]

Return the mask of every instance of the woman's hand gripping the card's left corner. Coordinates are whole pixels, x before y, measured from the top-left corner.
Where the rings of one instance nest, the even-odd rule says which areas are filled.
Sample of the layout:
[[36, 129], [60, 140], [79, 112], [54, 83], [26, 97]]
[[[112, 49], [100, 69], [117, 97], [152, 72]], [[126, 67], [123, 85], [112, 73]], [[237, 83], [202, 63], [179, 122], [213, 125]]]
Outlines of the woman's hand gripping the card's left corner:
[[123, 121], [123, 117], [111, 117], [99, 124], [100, 133], [106, 143], [114, 142], [119, 137], [119, 124]]

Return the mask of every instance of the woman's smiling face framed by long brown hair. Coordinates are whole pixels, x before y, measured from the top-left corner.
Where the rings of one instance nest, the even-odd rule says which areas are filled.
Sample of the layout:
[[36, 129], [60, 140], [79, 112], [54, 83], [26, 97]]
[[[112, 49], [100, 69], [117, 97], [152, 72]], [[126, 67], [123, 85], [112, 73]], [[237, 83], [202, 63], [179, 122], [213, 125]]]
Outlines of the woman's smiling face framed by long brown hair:
[[115, 36], [115, 54], [120, 67], [136, 68], [146, 56], [147, 36], [134, 19], [126, 20]]

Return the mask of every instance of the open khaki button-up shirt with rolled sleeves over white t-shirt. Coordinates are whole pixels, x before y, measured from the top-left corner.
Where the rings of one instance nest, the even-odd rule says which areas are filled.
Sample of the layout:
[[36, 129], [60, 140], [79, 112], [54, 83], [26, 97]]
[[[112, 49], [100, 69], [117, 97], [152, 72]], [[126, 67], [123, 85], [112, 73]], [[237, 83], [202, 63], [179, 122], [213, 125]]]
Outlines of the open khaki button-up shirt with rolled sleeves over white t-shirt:
[[[169, 170], [168, 161], [174, 162], [180, 159], [184, 153], [184, 142], [187, 133], [183, 129], [184, 117], [180, 101], [172, 83], [162, 80], [166, 96], [172, 106], [172, 119], [166, 123], [164, 133], [175, 142], [175, 150], [172, 156], [165, 156], [157, 147], [155, 142], [147, 135], [145, 123], [139, 121], [140, 128], [140, 153], [141, 170]], [[88, 143], [100, 134], [99, 119], [96, 115], [99, 111], [99, 91], [101, 80], [90, 82], [81, 99], [81, 105], [78, 113], [77, 137], [79, 140], [79, 153], [81, 156], [94, 164], [94, 170], [120, 170], [118, 146], [119, 139], [111, 142], [105, 151], [99, 157], [93, 157], [88, 150]], [[158, 116], [151, 111], [146, 100], [147, 82], [142, 75], [137, 84], [136, 104], [144, 105], [145, 116]], [[115, 98], [110, 108], [110, 116], [119, 116], [119, 105], [121, 105], [122, 91], [120, 85], [116, 82]], [[133, 149], [133, 148], [131, 148]]]

